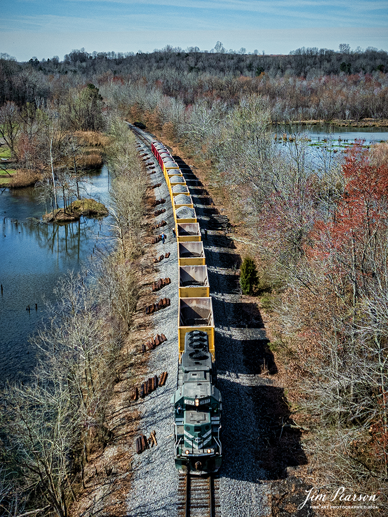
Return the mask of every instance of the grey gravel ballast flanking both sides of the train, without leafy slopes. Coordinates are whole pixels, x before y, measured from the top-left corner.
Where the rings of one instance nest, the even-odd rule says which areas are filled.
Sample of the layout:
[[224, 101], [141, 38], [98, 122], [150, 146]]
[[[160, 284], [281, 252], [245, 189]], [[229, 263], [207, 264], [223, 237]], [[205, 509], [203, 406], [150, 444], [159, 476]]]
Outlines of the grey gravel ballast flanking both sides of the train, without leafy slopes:
[[[156, 162], [156, 160], [155, 160]], [[161, 170], [156, 167], [153, 176], [161, 181], [156, 197], [166, 198], [166, 213], [161, 216], [168, 223], [167, 240], [154, 246], [155, 256], [170, 252], [170, 257], [156, 264], [156, 278], [171, 278], [157, 297], [169, 297], [170, 307], [149, 318], [150, 335], [164, 333], [168, 341], [148, 353], [149, 376], [167, 371], [166, 386], [132, 403], [141, 413], [143, 432], [147, 437], [156, 431], [157, 447], [150, 448], [133, 461], [133, 489], [128, 495], [128, 517], [177, 517], [177, 479], [173, 459], [173, 408], [170, 403], [175, 390], [177, 373], [177, 317], [178, 317], [178, 264], [176, 240], [172, 235], [174, 220], [168, 188]], [[191, 171], [188, 171], [191, 175]], [[182, 179], [180, 176], [176, 178]], [[172, 178], [170, 178], [172, 180]], [[184, 179], [183, 179], [184, 181]], [[173, 186], [172, 190], [178, 186]], [[180, 186], [179, 186], [180, 187]], [[184, 187], [186, 188], [186, 187]], [[192, 192], [193, 193], [193, 192]], [[210, 226], [210, 211], [201, 200], [195, 210], [185, 212], [180, 218], [196, 217], [203, 229]], [[181, 207], [176, 210], [188, 209]], [[158, 222], [158, 218], [156, 218]], [[219, 502], [222, 517], [268, 517], [272, 473], [261, 466], [265, 456], [264, 420], [266, 411], [262, 394], [271, 389], [272, 381], [259, 372], [252, 371], [252, 354], [259, 353], [257, 343], [265, 341], [265, 330], [260, 316], [245, 311], [237, 292], [238, 277], [235, 265], [238, 255], [223, 231], [208, 230], [203, 241], [208, 278], [211, 288], [215, 320], [216, 360], [218, 387], [222, 394], [222, 466], [219, 471]], [[151, 323], [152, 322], [152, 323]]]

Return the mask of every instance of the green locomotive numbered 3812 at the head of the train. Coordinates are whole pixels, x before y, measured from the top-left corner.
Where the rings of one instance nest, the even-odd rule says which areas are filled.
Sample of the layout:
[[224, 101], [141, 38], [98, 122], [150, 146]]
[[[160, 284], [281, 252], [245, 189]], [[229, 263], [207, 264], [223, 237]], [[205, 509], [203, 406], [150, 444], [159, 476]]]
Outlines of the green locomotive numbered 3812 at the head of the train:
[[181, 472], [207, 474], [221, 466], [221, 394], [208, 336], [201, 330], [186, 333], [171, 402], [175, 412], [175, 466]]

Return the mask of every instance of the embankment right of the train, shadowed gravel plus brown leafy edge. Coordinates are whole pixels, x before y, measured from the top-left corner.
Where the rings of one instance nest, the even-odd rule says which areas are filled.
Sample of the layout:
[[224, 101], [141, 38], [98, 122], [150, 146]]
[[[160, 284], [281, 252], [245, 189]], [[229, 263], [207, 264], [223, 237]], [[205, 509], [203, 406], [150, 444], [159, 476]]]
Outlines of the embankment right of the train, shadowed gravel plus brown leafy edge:
[[191, 159], [185, 162], [177, 156], [181, 151], [174, 150], [201, 226], [213, 299], [223, 398], [222, 514], [303, 515], [297, 501], [310, 486], [305, 478], [308, 459], [303, 429], [293, 421], [292, 402], [282, 383], [285, 365], [277, 364], [272, 352], [272, 317], [259, 309], [257, 298], [241, 295], [238, 269], [252, 243], [229, 222], [222, 192], [207, 190], [205, 171], [190, 168]]

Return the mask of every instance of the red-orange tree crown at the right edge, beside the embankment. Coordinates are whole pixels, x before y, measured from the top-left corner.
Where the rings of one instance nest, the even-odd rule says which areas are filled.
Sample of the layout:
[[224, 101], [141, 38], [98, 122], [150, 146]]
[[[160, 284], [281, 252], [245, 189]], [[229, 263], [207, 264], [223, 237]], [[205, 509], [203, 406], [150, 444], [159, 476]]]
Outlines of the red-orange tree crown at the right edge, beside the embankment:
[[375, 251], [387, 229], [388, 166], [372, 164], [362, 142], [357, 142], [342, 171], [344, 192], [330, 217], [316, 222], [308, 254], [324, 261], [338, 296], [346, 297], [352, 286], [354, 305], [373, 291], [379, 274]]

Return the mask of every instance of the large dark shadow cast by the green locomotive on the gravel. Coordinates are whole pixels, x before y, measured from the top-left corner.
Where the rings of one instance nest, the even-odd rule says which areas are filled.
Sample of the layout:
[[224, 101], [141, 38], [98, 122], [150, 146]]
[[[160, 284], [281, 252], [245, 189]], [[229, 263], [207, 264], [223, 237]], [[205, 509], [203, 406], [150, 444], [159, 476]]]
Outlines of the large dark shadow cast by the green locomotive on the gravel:
[[[222, 393], [222, 467], [220, 475], [241, 481], [285, 479], [287, 468], [305, 465], [301, 431], [293, 425], [282, 388], [271, 385], [245, 386], [220, 378]], [[251, 406], [242, 425], [236, 415]], [[296, 428], [296, 426], [295, 426]]]

